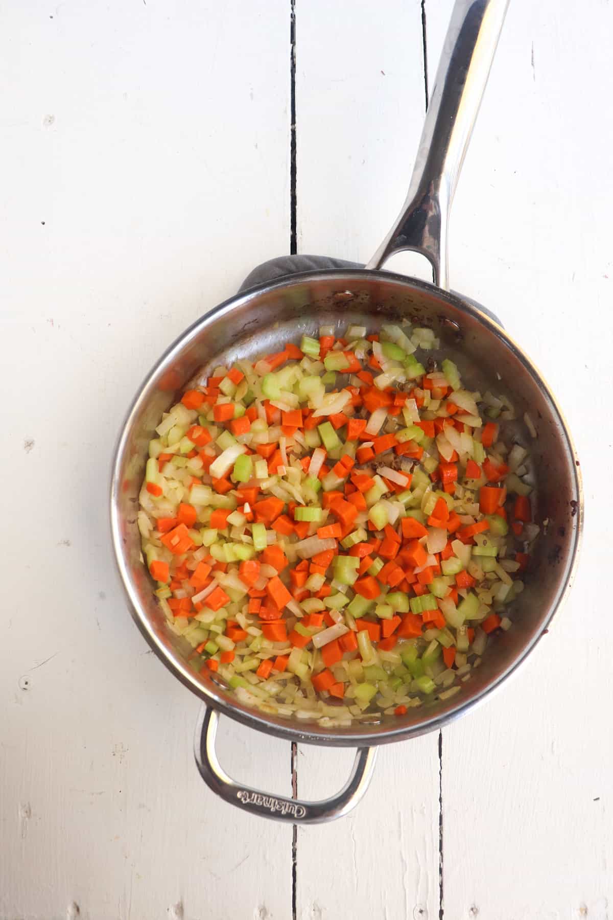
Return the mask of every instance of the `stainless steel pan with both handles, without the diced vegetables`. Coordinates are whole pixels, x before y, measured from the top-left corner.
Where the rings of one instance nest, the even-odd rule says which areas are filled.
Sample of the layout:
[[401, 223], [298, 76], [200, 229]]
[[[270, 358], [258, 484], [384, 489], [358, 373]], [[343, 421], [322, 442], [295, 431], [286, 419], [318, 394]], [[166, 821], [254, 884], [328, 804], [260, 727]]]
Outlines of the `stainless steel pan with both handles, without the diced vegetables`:
[[[525, 661], [551, 623], [568, 587], [577, 555], [582, 493], [573, 444], [562, 413], [532, 362], [490, 316], [448, 291], [447, 230], [453, 191], [482, 98], [507, 0], [459, 0], [438, 67], [426, 125], [403, 212], [366, 269], [311, 270], [259, 284], [214, 307], [176, 340], [154, 365], [132, 403], [114, 458], [111, 524], [119, 572], [132, 615], [156, 655], [205, 703], [196, 736], [196, 759], [207, 784], [223, 799], [267, 817], [322, 822], [352, 808], [367, 788], [376, 746], [439, 729], [468, 711]], [[402, 249], [430, 260], [434, 284], [381, 270]], [[517, 418], [529, 410], [538, 439], [530, 446], [536, 471], [539, 521], [533, 570], [516, 603], [515, 626], [495, 639], [459, 695], [402, 718], [373, 720], [344, 730], [274, 718], [242, 706], [216, 675], [195, 673], [185, 640], [171, 635], [153, 598], [141, 557], [136, 524], [148, 442], [162, 412], [200, 368], [277, 351], [281, 343], [312, 334], [321, 324], [377, 328], [381, 322], [415, 317], [437, 330], [441, 350], [451, 354], [473, 389], [507, 394]], [[519, 426], [521, 428], [521, 426]], [[525, 438], [528, 432], [519, 431]], [[295, 742], [356, 746], [352, 775], [337, 795], [306, 802], [237, 785], [217, 761], [214, 738], [219, 713]]]

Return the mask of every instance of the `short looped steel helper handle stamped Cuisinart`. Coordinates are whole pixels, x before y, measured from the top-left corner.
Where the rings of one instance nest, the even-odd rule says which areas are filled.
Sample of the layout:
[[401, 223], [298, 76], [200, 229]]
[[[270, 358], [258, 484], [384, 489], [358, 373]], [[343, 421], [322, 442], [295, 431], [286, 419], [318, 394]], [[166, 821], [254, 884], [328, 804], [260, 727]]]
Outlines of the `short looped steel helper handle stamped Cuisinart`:
[[196, 764], [207, 786], [221, 799], [243, 811], [289, 824], [321, 824], [342, 818], [355, 808], [369, 788], [377, 753], [377, 749], [372, 747], [358, 748], [345, 786], [330, 799], [307, 802], [302, 799], [272, 796], [248, 786], [239, 786], [225, 773], [215, 752], [218, 721], [219, 715], [214, 709], [207, 706], [201, 708], [194, 742]]

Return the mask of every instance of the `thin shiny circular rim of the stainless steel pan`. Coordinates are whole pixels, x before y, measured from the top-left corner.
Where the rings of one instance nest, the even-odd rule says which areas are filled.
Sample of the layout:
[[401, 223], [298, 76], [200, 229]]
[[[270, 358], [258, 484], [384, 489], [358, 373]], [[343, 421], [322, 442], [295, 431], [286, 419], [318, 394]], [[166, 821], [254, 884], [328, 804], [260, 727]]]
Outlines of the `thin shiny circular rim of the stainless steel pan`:
[[[530, 374], [535, 382], [539, 384], [544, 396], [551, 404], [553, 414], [561, 426], [563, 436], [569, 448], [569, 453], [573, 458], [573, 486], [577, 500], [577, 512], [573, 519], [574, 527], [572, 545], [570, 547], [569, 557], [567, 559], [563, 577], [557, 588], [555, 600], [553, 604], [551, 604], [551, 609], [546, 619], [541, 623], [539, 631], [536, 632], [532, 638], [530, 638], [528, 644], [523, 647], [517, 658], [512, 661], [503, 672], [498, 674], [495, 679], [490, 682], [490, 684], [484, 686], [476, 696], [471, 697], [469, 700], [461, 701], [460, 695], [457, 697], [459, 702], [455, 705], [450, 705], [450, 707], [444, 713], [440, 715], [433, 715], [430, 718], [423, 719], [410, 726], [398, 726], [396, 728], [391, 725], [386, 726], [382, 730], [370, 732], [368, 730], [358, 731], [351, 728], [342, 730], [342, 733], [339, 733], [337, 730], [331, 730], [329, 732], [322, 733], [321, 730], [307, 730], [306, 728], [298, 727], [294, 728], [291, 726], [290, 722], [278, 723], [276, 721], [271, 721], [270, 719], [267, 719], [267, 717], [258, 709], [250, 709], [247, 707], [239, 707], [237, 705], [230, 704], [223, 696], [216, 692], [215, 684], [213, 684], [212, 681], [208, 681], [206, 684], [197, 682], [195, 675], [193, 675], [191, 671], [184, 667], [181, 661], [178, 660], [178, 657], [173, 656], [166, 648], [166, 646], [159, 640], [148, 617], [144, 615], [138, 598], [138, 593], [132, 584], [133, 580], [131, 578], [131, 571], [123, 558], [121, 548], [123, 544], [119, 514], [119, 474], [121, 460], [126, 448], [128, 431], [130, 431], [131, 428], [131, 420], [138, 413], [140, 408], [142, 408], [146, 397], [149, 396], [149, 388], [153, 384], [153, 381], [157, 379], [161, 370], [165, 367], [165, 365], [172, 362], [173, 358], [176, 358], [181, 351], [185, 350], [189, 342], [199, 335], [199, 332], [202, 328], [205, 328], [214, 319], [220, 318], [224, 314], [231, 313], [234, 307], [253, 300], [261, 293], [271, 293], [276, 290], [294, 287], [296, 285], [303, 284], [304, 282], [314, 282], [316, 280], [322, 279], [325, 279], [329, 282], [334, 282], [337, 280], [339, 283], [351, 282], [352, 279], [356, 281], [369, 280], [373, 282], [379, 281], [397, 283], [403, 288], [409, 286], [413, 289], [416, 289], [417, 291], [434, 294], [437, 296], [437, 298], [442, 299], [443, 301], [447, 301], [449, 305], [452, 305], [456, 309], [460, 310], [460, 313], [464, 313], [476, 319], [482, 324], [482, 326], [493, 333], [497, 339], [500, 339], [503, 342], [505, 347], [508, 348], [517, 357], [517, 360], [523, 364], [525, 369], [528, 371], [528, 374]], [[246, 291], [234, 294], [233, 297], [222, 301], [221, 304], [213, 306], [208, 313], [200, 316], [197, 320], [194, 321], [194, 323], [188, 326], [187, 329], [185, 329], [184, 332], [182, 332], [164, 351], [160, 358], [154, 362], [153, 367], [149, 373], [146, 374], [142, 384], [137, 389], [135, 397], [133, 397], [131, 400], [130, 408], [128, 409], [121, 423], [121, 427], [119, 429], [119, 437], [115, 444], [112, 455], [110, 488], [110, 530], [112, 544], [115, 561], [119, 570], [120, 581], [122, 583], [123, 591], [129, 602], [131, 616], [140, 632], [142, 633], [142, 636], [146, 639], [150, 648], [155, 652], [157, 657], [164, 662], [168, 670], [173, 673], [182, 684], [187, 686], [189, 690], [196, 694], [196, 696], [199, 696], [199, 698], [205, 704], [216, 708], [228, 718], [241, 722], [250, 728], [255, 728], [256, 730], [264, 731], [278, 738], [283, 738], [292, 742], [323, 744], [329, 747], [367, 747], [369, 745], [400, 742], [409, 738], [414, 738], [426, 734], [429, 731], [440, 729], [454, 719], [458, 719], [461, 715], [468, 712], [473, 707], [482, 703], [485, 699], [491, 696], [495, 690], [504, 684], [512, 674], [517, 673], [520, 665], [527, 660], [530, 652], [534, 650], [536, 645], [539, 643], [540, 638], [542, 638], [542, 636], [551, 626], [551, 621], [559, 611], [562, 600], [566, 597], [571, 587], [573, 577], [576, 573], [579, 560], [579, 550], [583, 535], [583, 524], [583, 482], [581, 467], [578, 465], [578, 461], [576, 459], [576, 450], [574, 447], [573, 438], [569, 431], [566, 419], [562, 413], [562, 409], [558, 405], [556, 398], [551, 392], [551, 387], [548, 385], [543, 375], [540, 374], [539, 369], [536, 367], [534, 362], [528, 358], [526, 352], [523, 351], [523, 349], [517, 344], [515, 339], [509, 336], [505, 329], [496, 323], [494, 319], [483, 313], [482, 310], [479, 309], [479, 307], [475, 305], [473, 301], [463, 299], [460, 293], [444, 291], [443, 289], [430, 282], [424, 282], [410, 276], [385, 270], [315, 269], [309, 271], [301, 271], [297, 272], [296, 274], [282, 276], [281, 278], [275, 279], [273, 282], [262, 282], [253, 288], [249, 288]]]

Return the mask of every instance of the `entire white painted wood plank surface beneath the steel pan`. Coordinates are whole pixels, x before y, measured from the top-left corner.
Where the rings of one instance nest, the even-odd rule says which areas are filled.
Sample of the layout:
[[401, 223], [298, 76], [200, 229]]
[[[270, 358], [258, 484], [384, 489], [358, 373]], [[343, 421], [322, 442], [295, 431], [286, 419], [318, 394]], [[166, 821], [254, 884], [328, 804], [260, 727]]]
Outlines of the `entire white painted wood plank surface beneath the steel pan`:
[[[202, 786], [198, 703], [131, 625], [106, 512], [142, 374], [288, 250], [289, 6], [30, 0], [3, 16], [0, 920], [291, 917], [291, 829]], [[425, 0], [430, 83], [450, 6]], [[613, 7], [580, 13], [511, 4], [453, 209], [452, 283], [559, 394], [587, 515], [551, 635], [443, 732], [446, 920], [613, 909]], [[365, 260], [421, 128], [422, 5], [297, 0], [296, 16], [299, 248]], [[220, 745], [238, 779], [289, 794], [287, 743], [222, 721]], [[352, 756], [301, 747], [299, 794], [330, 794]], [[299, 832], [300, 920], [437, 920], [438, 769], [436, 735], [387, 747], [358, 811]]]

